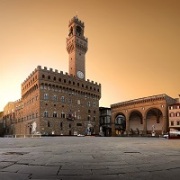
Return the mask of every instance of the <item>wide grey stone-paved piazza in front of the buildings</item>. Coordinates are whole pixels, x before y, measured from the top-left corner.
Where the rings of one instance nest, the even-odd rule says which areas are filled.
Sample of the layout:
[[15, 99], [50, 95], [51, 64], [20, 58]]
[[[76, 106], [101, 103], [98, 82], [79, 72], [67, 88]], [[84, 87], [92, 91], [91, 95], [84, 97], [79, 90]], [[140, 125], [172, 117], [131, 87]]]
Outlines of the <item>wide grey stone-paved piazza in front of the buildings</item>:
[[0, 180], [177, 180], [179, 177], [178, 139], [0, 138]]

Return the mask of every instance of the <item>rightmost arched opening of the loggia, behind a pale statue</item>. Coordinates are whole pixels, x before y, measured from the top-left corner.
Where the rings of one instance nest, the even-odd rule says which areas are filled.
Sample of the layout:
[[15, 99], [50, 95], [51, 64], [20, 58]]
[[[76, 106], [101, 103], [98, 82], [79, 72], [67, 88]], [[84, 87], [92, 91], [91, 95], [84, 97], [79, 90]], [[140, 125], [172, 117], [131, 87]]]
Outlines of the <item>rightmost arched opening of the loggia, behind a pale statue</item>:
[[151, 107], [146, 110], [145, 119], [147, 124], [147, 133], [152, 133], [154, 130], [156, 133], [161, 134], [163, 130], [163, 112], [157, 107]]

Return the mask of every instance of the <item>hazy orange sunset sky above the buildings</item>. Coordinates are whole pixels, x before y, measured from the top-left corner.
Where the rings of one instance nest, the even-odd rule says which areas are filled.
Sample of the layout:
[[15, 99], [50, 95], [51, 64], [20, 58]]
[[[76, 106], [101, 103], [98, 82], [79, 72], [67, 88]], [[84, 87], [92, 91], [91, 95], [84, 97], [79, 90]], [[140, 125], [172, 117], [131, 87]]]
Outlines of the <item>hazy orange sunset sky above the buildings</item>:
[[179, 0], [0, 0], [0, 111], [21, 97], [38, 66], [68, 72], [68, 22], [88, 38], [86, 78], [101, 83], [100, 106], [180, 94]]

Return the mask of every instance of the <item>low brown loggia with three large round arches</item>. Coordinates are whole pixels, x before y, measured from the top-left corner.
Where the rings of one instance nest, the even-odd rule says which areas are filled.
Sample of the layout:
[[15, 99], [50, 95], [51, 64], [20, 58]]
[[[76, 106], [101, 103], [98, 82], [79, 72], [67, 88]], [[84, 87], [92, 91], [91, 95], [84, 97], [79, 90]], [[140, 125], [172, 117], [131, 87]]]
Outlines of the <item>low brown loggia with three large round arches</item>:
[[168, 132], [168, 106], [174, 102], [168, 95], [159, 94], [112, 104], [112, 135]]

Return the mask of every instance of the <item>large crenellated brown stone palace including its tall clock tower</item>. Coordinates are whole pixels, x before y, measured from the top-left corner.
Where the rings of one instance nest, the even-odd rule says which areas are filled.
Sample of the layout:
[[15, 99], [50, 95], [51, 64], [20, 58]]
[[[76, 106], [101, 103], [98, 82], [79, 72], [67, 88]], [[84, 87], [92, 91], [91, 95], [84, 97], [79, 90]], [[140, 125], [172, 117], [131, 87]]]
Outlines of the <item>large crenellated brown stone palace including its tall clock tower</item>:
[[66, 44], [69, 74], [38, 66], [22, 83], [21, 99], [5, 107], [7, 133], [99, 133], [101, 84], [85, 78], [88, 41], [77, 17], [69, 22]]

